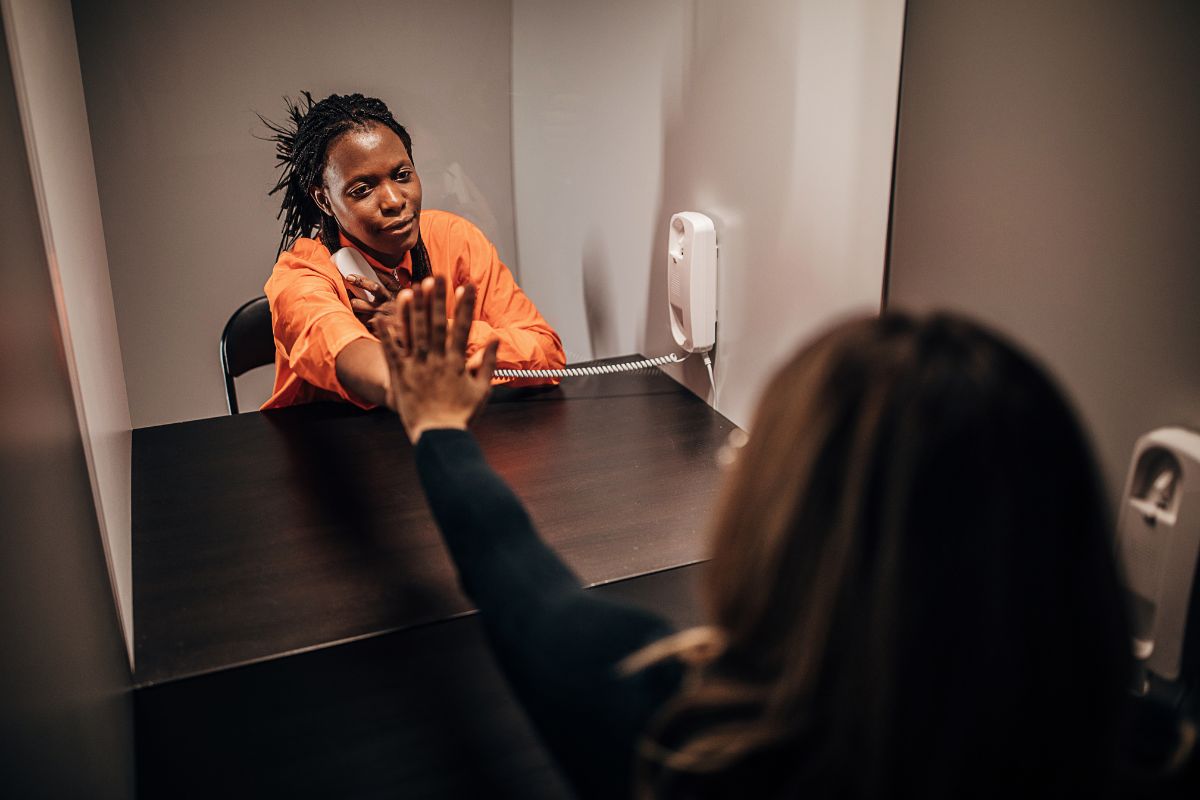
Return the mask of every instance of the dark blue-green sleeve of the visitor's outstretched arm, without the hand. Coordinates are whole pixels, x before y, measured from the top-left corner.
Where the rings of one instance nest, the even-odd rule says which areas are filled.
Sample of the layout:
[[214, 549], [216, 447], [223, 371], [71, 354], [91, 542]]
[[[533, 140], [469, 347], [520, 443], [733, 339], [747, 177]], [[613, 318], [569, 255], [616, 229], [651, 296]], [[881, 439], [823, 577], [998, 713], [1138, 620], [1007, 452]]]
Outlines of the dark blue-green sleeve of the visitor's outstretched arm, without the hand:
[[416, 468], [500, 668], [576, 790], [630, 796], [636, 744], [678, 688], [680, 669], [665, 663], [623, 676], [616, 666], [671, 626], [586, 591], [472, 434], [424, 433]]

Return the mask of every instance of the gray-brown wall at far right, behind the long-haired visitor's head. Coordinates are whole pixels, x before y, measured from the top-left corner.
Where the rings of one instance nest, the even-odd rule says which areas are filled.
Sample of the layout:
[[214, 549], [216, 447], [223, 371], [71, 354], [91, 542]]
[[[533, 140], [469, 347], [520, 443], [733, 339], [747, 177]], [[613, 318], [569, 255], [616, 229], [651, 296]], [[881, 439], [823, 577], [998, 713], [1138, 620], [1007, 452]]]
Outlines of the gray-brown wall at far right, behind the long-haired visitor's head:
[[1198, 42], [1189, 1], [908, 4], [889, 305], [1042, 355], [1112, 491], [1200, 427]]

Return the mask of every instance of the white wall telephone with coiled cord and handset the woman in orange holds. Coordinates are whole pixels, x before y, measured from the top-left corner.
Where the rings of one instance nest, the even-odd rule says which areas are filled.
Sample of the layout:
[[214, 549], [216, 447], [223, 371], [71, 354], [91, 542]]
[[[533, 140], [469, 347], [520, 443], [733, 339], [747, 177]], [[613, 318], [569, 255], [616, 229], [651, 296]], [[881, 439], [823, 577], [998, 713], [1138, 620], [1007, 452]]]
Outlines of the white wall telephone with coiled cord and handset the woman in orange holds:
[[[348, 277], [359, 276], [376, 282], [378, 278], [362, 254], [353, 247], [342, 247], [334, 253], [334, 264]], [[361, 287], [347, 287], [355, 297], [374, 301], [372, 293]], [[716, 343], [716, 227], [713, 221], [697, 211], [680, 211], [671, 217], [667, 230], [667, 311], [671, 315], [671, 335], [676, 344], [686, 350], [593, 367], [566, 367], [564, 369], [497, 369], [497, 378], [577, 378], [634, 372], [666, 363], [679, 363], [688, 355], [700, 353], [708, 366], [713, 380], [712, 360], [708, 351]], [[715, 389], [715, 383], [714, 383]]]

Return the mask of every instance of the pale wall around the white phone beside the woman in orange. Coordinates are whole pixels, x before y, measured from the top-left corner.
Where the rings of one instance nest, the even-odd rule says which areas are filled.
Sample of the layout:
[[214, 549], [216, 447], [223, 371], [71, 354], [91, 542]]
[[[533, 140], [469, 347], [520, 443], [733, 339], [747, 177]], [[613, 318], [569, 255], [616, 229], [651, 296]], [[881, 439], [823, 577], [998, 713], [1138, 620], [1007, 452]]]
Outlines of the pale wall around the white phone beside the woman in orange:
[[[714, 405], [878, 309], [901, 0], [515, 0], [522, 281], [572, 359], [673, 349], [666, 224], [716, 223]], [[678, 377], [708, 396], [702, 363]], [[710, 398], [713, 399], [713, 398]]]

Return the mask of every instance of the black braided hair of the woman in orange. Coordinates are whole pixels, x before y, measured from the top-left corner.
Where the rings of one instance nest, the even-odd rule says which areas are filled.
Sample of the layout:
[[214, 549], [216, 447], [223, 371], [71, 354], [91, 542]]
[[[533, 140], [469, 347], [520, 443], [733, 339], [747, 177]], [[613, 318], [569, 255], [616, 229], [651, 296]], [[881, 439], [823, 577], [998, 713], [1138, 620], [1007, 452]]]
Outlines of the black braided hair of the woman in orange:
[[[366, 128], [371, 125], [383, 125], [400, 137], [413, 157], [413, 139], [404, 126], [388, 110], [388, 106], [376, 97], [362, 95], [330, 95], [320, 102], [313, 102], [310, 92], [302, 92], [300, 100], [284, 97], [287, 121], [271, 122], [259, 115], [259, 120], [270, 128], [268, 142], [275, 143], [276, 167], [282, 172], [275, 187], [268, 196], [283, 192], [283, 201], [276, 219], [283, 219], [283, 235], [276, 258], [292, 247], [296, 239], [312, 236], [313, 233], [325, 247], [334, 252], [341, 247], [337, 239], [337, 221], [320, 210], [308, 193], [318, 185], [325, 170], [325, 154], [329, 145], [347, 131]], [[418, 229], [416, 245], [413, 247], [413, 281], [421, 281], [431, 275], [430, 253], [425, 249]]]

